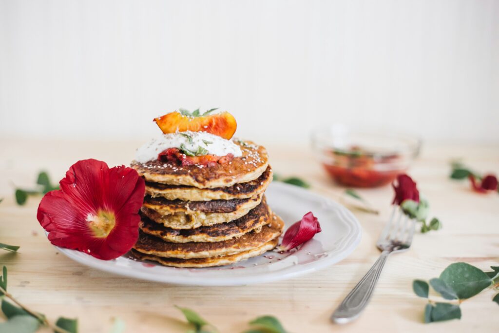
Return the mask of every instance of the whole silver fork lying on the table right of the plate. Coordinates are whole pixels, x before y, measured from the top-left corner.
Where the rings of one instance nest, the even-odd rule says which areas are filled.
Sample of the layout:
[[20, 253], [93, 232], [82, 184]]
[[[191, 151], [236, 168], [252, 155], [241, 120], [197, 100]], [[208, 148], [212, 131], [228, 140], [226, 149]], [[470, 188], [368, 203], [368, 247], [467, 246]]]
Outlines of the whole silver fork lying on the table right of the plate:
[[371, 299], [388, 256], [394, 252], [407, 251], [411, 246], [415, 225], [416, 220], [409, 219], [399, 206], [394, 206], [390, 221], [376, 243], [381, 256], [331, 315], [332, 322], [346, 324], [359, 317]]

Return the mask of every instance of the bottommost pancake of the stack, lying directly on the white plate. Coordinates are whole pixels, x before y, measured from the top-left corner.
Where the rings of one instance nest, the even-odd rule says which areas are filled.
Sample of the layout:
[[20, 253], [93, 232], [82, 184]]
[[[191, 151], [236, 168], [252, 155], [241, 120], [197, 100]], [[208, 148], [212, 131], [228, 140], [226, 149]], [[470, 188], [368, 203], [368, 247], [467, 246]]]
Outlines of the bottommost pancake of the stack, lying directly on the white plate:
[[278, 239], [274, 238], [273, 240], [251, 250], [246, 250], [233, 255], [211, 257], [211, 258], [194, 258], [194, 259], [164, 258], [164, 257], [144, 254], [138, 252], [137, 250], [132, 250], [131, 254], [137, 259], [155, 261], [165, 266], [173, 266], [179, 268], [185, 268], [185, 267], [203, 268], [203, 267], [231, 265], [245, 259], [257, 257], [275, 248], [277, 246], [277, 243]]

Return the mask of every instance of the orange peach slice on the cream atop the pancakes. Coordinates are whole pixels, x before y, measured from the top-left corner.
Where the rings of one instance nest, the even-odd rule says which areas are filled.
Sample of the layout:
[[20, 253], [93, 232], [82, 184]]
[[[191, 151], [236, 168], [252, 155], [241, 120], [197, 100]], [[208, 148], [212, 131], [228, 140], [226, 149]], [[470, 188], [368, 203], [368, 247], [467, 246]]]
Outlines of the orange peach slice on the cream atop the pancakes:
[[208, 132], [229, 140], [236, 132], [236, 118], [229, 112], [221, 112], [207, 116], [188, 116], [175, 111], [154, 118], [163, 133], [176, 132]]

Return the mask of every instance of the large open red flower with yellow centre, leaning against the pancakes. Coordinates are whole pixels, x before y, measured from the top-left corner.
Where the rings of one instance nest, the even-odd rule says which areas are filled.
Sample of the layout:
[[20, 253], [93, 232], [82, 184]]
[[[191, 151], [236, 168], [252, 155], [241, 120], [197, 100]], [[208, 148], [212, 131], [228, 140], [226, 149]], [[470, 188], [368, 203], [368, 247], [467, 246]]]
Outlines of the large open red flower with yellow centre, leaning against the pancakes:
[[78, 161], [60, 181], [60, 190], [41, 199], [36, 218], [53, 245], [110, 260], [137, 241], [144, 191], [144, 180], [132, 168]]

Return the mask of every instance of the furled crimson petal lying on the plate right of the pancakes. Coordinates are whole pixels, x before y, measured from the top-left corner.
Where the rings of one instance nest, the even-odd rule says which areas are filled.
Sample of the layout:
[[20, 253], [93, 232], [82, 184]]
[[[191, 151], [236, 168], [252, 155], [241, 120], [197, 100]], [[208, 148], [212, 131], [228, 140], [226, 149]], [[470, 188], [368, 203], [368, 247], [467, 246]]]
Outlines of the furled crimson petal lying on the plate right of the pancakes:
[[320, 224], [312, 212], [308, 212], [301, 218], [301, 221], [294, 223], [284, 233], [279, 251], [288, 251], [309, 241], [317, 233], [320, 233]]

